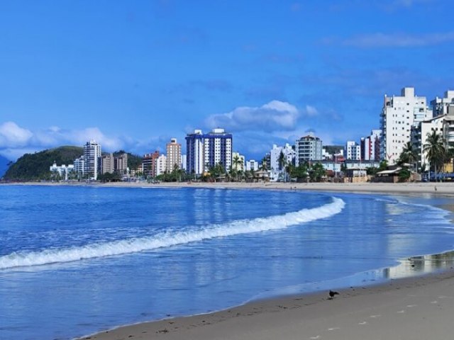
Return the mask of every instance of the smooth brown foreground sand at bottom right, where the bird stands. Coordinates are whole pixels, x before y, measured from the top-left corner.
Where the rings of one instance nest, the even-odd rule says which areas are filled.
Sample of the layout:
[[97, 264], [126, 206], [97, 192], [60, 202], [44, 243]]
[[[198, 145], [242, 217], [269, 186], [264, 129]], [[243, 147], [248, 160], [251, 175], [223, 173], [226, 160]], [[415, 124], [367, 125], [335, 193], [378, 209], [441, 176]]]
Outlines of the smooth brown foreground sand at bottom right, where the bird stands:
[[[328, 296], [328, 290], [270, 297], [216, 312], [129, 324], [76, 339], [273, 340], [282, 332], [282, 339], [290, 340], [322, 339], [320, 334], [323, 339], [447, 339], [452, 322], [446, 323], [446, 317], [438, 324], [438, 336], [419, 337], [419, 331], [407, 325], [418, 327], [421, 319], [431, 316], [428, 329], [436, 328], [434, 319], [438, 317], [434, 313], [447, 314], [449, 319], [454, 312], [454, 251], [449, 253], [443, 270], [350, 288], [333, 287], [339, 293], [334, 298]], [[419, 317], [414, 317], [414, 311]], [[372, 322], [380, 331], [362, 327]], [[404, 325], [397, 329], [401, 322]], [[389, 324], [395, 328], [389, 329]], [[383, 338], [384, 329], [391, 333]]]

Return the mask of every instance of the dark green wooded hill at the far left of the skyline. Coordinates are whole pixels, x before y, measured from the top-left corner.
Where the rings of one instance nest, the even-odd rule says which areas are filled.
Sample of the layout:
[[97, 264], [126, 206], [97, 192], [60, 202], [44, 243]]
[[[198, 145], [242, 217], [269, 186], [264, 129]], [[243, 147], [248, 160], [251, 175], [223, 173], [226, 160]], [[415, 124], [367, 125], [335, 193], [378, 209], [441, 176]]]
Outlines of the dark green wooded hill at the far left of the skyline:
[[34, 154], [24, 154], [9, 167], [4, 179], [9, 181], [48, 179], [49, 168], [54, 162], [57, 165], [73, 164], [74, 159], [80, 157], [82, 153], [82, 147], [57, 147]]

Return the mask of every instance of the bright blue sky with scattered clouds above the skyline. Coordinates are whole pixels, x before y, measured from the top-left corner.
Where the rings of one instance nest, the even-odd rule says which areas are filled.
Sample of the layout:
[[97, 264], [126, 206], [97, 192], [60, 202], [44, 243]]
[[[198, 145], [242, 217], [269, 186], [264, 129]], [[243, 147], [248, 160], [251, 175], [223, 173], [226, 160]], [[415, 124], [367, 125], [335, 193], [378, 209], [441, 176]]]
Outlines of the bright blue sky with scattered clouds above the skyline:
[[165, 152], [224, 128], [262, 159], [380, 128], [383, 96], [454, 89], [450, 0], [0, 0], [0, 155]]

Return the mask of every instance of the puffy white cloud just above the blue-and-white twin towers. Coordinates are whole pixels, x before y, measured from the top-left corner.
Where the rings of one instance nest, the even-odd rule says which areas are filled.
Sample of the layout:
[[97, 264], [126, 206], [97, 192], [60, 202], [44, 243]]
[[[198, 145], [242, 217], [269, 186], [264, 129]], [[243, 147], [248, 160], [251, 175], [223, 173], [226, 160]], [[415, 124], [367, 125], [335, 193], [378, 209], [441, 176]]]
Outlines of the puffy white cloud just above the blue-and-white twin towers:
[[232, 132], [294, 130], [300, 116], [298, 109], [284, 101], [270, 101], [260, 107], [242, 106], [228, 113], [206, 118], [209, 128], [225, 128]]

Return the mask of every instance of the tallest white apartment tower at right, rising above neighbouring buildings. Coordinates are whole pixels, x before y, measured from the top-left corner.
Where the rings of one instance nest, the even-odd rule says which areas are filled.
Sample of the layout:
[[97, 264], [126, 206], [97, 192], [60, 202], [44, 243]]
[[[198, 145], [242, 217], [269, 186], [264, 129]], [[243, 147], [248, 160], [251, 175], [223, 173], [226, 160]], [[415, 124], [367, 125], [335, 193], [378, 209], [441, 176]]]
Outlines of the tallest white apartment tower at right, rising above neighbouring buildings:
[[384, 95], [380, 128], [380, 158], [389, 165], [399, 159], [406, 142], [410, 142], [411, 126], [432, 118], [428, 110], [426, 97], [415, 96], [413, 87], [402, 89], [401, 96]]

